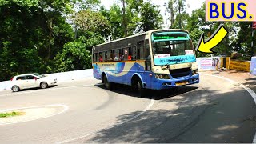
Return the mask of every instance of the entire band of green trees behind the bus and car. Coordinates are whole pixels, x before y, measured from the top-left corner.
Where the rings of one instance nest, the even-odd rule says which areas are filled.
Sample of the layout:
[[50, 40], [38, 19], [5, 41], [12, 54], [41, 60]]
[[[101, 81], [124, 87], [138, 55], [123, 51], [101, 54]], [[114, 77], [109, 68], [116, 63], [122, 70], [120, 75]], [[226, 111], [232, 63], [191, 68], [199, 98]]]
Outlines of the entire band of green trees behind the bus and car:
[[[52, 73], [91, 67], [92, 47], [126, 35], [161, 29], [159, 6], [150, 0], [0, 0], [0, 81], [14, 74]], [[190, 31], [194, 47], [223, 23], [229, 35], [214, 50], [255, 54], [251, 22], [206, 22], [205, 4], [191, 15], [186, 0], [166, 0], [170, 28]], [[198, 57], [209, 56], [198, 53]]]

